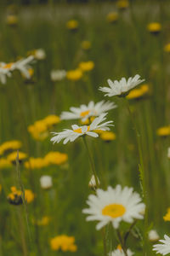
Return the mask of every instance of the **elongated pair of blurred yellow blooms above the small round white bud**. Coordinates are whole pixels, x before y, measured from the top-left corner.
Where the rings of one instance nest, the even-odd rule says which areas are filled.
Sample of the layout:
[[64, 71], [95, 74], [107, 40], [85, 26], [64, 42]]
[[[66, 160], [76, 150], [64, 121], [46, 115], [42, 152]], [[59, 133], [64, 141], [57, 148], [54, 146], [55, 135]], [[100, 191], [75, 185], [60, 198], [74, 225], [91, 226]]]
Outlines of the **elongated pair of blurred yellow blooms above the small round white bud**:
[[44, 158], [33, 158], [31, 157], [25, 163], [27, 169], [41, 169], [51, 165], [62, 165], [68, 160], [68, 155], [60, 153], [58, 151], [51, 151], [44, 156]]

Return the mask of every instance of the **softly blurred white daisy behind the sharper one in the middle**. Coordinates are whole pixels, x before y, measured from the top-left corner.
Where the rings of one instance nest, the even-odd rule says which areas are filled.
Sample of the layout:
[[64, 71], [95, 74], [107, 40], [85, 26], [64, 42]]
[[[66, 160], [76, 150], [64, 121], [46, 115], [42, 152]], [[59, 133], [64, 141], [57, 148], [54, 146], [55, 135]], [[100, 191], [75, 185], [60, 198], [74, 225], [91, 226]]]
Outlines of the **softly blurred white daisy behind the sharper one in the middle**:
[[60, 119], [82, 119], [82, 122], [86, 121], [91, 116], [99, 116], [101, 113], [106, 113], [108, 110], [116, 108], [114, 102], [89, 102], [88, 105], [81, 105], [80, 108], [71, 107], [71, 112], [62, 112]]

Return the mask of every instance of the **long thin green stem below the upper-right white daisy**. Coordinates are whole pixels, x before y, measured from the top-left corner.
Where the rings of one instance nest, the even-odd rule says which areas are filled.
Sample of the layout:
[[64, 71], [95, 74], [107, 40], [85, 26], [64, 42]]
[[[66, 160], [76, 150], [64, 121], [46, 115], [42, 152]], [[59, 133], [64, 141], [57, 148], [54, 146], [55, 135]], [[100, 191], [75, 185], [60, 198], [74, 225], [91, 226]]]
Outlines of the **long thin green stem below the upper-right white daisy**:
[[125, 98], [125, 101], [127, 103], [128, 113], [130, 114], [130, 117], [132, 119], [133, 130], [135, 131], [135, 134], [136, 134], [138, 149], [139, 149], [139, 160], [140, 160], [139, 173], [140, 173], [140, 180], [141, 180], [141, 183], [142, 183], [142, 189], [143, 189], [143, 195], [144, 195], [144, 204], [145, 204], [145, 212], [144, 212], [144, 251], [146, 251], [146, 247], [147, 247], [147, 226], [148, 226], [148, 207], [147, 207], [147, 190], [146, 190], [146, 179], [145, 179], [145, 173], [144, 173], [144, 159], [143, 159], [143, 154], [142, 154], [142, 144], [141, 144], [139, 131], [138, 131], [136, 123], [133, 119], [133, 113], [131, 112], [128, 100], [126, 98]]

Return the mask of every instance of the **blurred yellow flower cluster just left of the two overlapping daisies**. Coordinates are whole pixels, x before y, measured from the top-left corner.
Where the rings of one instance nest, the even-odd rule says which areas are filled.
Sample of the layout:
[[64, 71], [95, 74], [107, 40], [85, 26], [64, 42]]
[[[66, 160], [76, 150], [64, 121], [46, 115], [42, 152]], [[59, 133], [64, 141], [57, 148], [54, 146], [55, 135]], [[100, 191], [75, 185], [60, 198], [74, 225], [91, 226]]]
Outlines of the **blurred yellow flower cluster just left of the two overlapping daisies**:
[[29, 125], [28, 131], [35, 140], [42, 141], [48, 137], [48, 130], [59, 122], [59, 116], [48, 115], [46, 118], [36, 121], [33, 125]]

